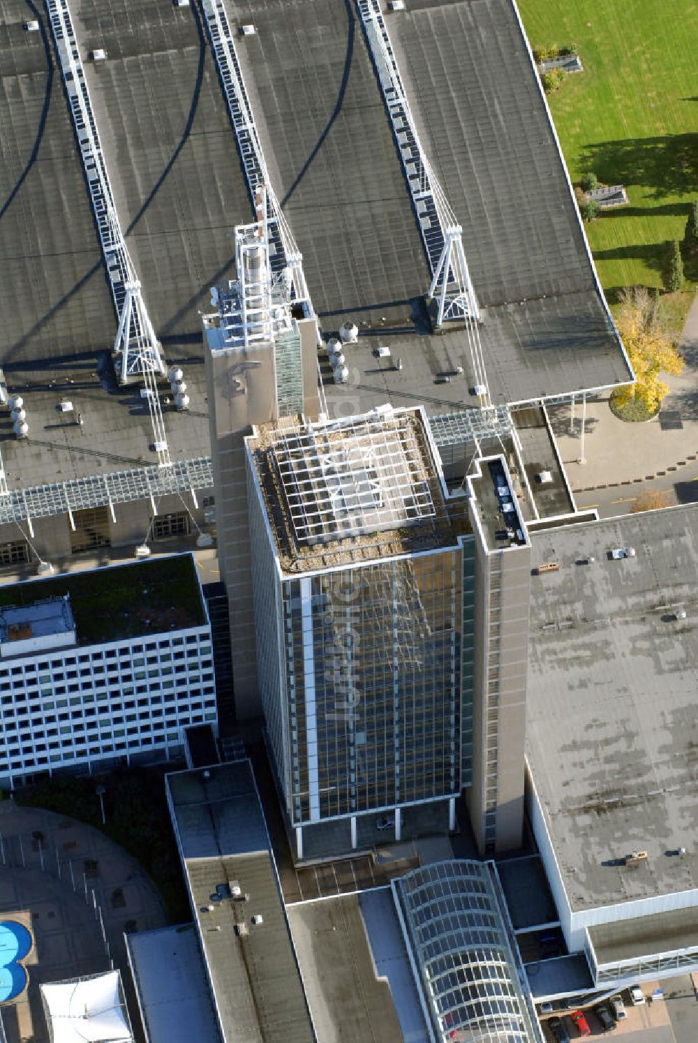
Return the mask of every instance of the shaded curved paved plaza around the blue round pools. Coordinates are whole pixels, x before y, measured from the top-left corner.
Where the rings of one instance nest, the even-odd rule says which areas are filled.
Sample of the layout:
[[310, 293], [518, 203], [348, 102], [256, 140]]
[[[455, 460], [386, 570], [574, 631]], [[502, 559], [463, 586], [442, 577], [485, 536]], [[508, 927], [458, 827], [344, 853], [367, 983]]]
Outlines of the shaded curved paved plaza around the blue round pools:
[[124, 930], [167, 922], [151, 880], [123, 848], [75, 819], [13, 800], [0, 802], [5, 918], [25, 923], [34, 939], [28, 988], [2, 1008], [7, 1043], [48, 1043], [41, 983], [109, 970], [104, 940], [123, 975]]

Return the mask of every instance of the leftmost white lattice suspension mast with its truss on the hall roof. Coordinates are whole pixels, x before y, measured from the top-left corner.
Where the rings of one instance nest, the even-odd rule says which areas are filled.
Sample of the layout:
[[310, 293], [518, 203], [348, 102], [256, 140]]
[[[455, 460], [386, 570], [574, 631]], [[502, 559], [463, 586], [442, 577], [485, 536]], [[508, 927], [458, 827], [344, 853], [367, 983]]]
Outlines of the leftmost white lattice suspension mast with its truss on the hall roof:
[[119, 318], [114, 342], [115, 364], [123, 384], [131, 379], [144, 380], [158, 463], [169, 466], [171, 461], [157, 385], [157, 374], [166, 371], [165, 360], [114, 205], [68, 0], [46, 0], [46, 7]]

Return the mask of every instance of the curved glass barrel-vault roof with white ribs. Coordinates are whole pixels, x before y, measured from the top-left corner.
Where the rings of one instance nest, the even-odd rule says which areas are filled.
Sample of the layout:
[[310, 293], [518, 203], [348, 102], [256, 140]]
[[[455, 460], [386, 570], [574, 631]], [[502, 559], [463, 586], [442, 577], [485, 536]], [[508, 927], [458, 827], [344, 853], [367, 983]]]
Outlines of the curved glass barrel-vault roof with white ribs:
[[392, 888], [433, 1039], [537, 1041], [488, 867], [437, 863]]

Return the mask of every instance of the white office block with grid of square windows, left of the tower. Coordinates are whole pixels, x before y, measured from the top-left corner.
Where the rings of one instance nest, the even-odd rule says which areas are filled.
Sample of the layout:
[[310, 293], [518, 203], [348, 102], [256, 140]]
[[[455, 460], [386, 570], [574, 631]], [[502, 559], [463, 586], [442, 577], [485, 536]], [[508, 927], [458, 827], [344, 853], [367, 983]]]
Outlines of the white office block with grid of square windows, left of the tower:
[[178, 754], [217, 727], [191, 555], [0, 588], [0, 785]]

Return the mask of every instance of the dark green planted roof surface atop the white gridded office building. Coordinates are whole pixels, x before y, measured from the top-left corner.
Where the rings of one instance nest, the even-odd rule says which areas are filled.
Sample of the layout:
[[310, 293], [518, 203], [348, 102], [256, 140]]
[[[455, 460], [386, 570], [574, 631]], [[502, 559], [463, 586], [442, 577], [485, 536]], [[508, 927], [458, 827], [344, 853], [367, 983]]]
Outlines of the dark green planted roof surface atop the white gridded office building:
[[190, 554], [0, 587], [0, 608], [70, 595], [77, 640], [97, 645], [206, 623]]

